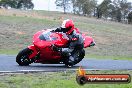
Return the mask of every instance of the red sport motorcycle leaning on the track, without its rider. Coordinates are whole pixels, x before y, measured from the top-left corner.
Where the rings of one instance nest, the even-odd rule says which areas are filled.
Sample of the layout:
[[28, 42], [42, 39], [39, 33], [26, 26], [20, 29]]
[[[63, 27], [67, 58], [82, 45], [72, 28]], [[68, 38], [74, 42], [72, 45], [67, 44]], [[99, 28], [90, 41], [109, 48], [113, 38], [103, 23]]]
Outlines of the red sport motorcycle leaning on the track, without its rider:
[[[94, 40], [85, 33], [81, 33], [84, 38], [84, 48], [94, 46]], [[76, 39], [73, 38], [72, 41]], [[53, 46], [67, 47], [69, 38], [65, 33], [52, 32], [51, 30], [38, 31], [33, 36], [33, 45], [21, 50], [16, 56], [16, 62], [20, 66], [27, 66], [31, 63], [42, 64], [65, 64], [68, 66], [67, 60], [64, 59], [60, 52], [54, 51]], [[76, 59], [73, 65], [79, 63], [85, 56], [84, 49], [74, 52]]]

